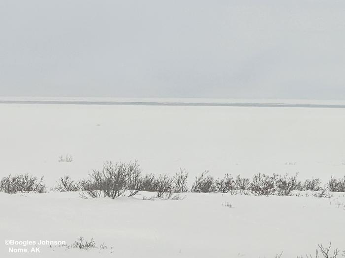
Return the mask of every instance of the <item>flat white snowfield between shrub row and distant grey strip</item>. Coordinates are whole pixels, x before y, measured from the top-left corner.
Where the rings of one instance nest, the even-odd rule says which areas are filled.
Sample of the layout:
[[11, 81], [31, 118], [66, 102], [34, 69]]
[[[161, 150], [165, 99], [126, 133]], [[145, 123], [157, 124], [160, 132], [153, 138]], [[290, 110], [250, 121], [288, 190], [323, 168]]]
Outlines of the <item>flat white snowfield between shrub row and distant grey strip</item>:
[[[345, 110], [136, 105], [0, 105], [0, 176], [86, 177], [105, 160], [143, 172], [252, 176], [345, 173]], [[58, 162], [60, 155], [72, 162]]]

